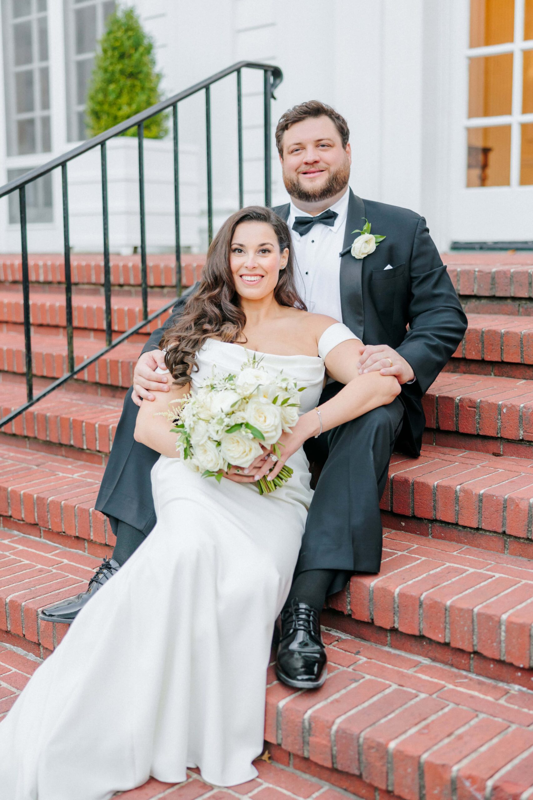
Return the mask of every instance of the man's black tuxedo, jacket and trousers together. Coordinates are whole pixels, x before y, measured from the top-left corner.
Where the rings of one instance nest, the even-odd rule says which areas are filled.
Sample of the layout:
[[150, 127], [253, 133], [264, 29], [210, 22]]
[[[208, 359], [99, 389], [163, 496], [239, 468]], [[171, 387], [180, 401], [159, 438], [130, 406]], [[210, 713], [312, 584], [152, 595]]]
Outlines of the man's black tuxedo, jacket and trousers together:
[[[289, 206], [274, 209], [288, 219]], [[364, 226], [386, 238], [363, 259], [350, 246]], [[463, 338], [467, 320], [446, 267], [423, 217], [404, 208], [362, 200], [352, 193], [340, 262], [342, 322], [365, 344], [388, 344], [412, 366], [416, 381], [402, 386], [400, 398], [363, 417], [309, 440], [310, 459], [327, 458], [308, 514], [296, 574], [331, 568], [377, 572], [381, 558], [379, 502], [392, 448], [420, 454], [424, 411], [421, 398]], [[392, 269], [386, 270], [386, 266]], [[193, 287], [194, 290], [194, 287]], [[177, 301], [165, 326], [153, 332], [143, 348], [159, 345], [163, 330], [180, 314]], [[328, 384], [324, 402], [339, 384]], [[121, 520], [149, 534], [155, 524], [150, 470], [158, 458], [154, 450], [135, 442], [137, 406], [126, 395], [113, 448], [96, 507], [107, 514], [113, 530]], [[177, 525], [179, 521], [177, 520]], [[339, 578], [330, 593], [344, 585]]]

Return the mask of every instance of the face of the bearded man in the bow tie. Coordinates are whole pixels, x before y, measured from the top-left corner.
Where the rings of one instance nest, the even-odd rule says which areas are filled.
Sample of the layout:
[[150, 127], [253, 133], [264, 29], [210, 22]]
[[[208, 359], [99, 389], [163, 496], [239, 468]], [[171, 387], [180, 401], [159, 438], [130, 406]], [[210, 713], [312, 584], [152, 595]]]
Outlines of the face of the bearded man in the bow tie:
[[285, 130], [280, 162], [291, 197], [321, 202], [348, 186], [352, 152], [332, 119], [309, 117]]

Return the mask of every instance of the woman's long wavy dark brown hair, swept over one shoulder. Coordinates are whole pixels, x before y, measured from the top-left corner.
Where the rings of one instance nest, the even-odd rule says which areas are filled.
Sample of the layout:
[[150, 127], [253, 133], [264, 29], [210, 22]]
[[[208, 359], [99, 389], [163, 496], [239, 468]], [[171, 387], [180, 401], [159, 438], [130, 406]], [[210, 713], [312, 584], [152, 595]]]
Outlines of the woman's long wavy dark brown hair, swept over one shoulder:
[[288, 248], [287, 266], [280, 270], [274, 298], [280, 306], [306, 310], [294, 282], [294, 258], [287, 223], [264, 206], [248, 206], [232, 214], [209, 246], [200, 286], [185, 303], [176, 323], [165, 331], [161, 339], [160, 346], [166, 350], [166, 366], [180, 386], [189, 383], [189, 375], [198, 369], [196, 353], [207, 339], [217, 338], [222, 342], [241, 339], [246, 316], [229, 266], [233, 234], [241, 222], [266, 222], [272, 226], [280, 252]]

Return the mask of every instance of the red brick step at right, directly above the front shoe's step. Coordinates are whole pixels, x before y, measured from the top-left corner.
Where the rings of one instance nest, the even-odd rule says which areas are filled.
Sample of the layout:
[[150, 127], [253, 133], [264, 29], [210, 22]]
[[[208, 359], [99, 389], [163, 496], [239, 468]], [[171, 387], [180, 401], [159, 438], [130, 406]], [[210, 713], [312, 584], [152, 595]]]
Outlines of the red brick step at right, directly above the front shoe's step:
[[[386, 530], [380, 574], [353, 576], [329, 606], [378, 628], [533, 667], [533, 562], [525, 558]], [[528, 679], [533, 688], [533, 671]]]

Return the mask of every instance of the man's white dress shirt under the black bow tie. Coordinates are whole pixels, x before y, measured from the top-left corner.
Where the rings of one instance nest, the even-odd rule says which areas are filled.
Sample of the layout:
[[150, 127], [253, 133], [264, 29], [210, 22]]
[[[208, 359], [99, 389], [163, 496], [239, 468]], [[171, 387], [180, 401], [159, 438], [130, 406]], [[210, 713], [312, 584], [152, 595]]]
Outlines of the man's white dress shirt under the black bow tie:
[[[332, 226], [317, 222], [304, 236], [292, 230], [296, 217], [311, 217], [300, 211], [291, 201], [288, 212], [288, 227], [291, 231], [295, 255], [296, 288], [308, 311], [328, 314], [342, 322], [340, 309], [340, 251], [344, 244], [344, 229], [348, 214], [349, 189], [340, 200], [330, 206], [338, 217]], [[325, 210], [325, 209], [324, 209]]]

